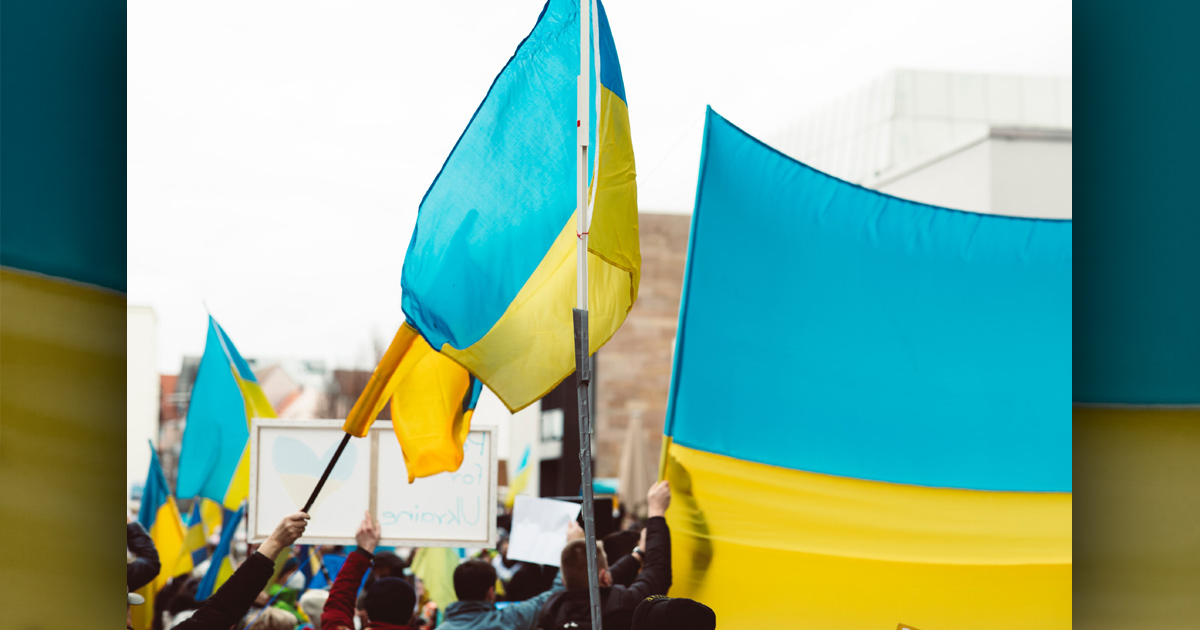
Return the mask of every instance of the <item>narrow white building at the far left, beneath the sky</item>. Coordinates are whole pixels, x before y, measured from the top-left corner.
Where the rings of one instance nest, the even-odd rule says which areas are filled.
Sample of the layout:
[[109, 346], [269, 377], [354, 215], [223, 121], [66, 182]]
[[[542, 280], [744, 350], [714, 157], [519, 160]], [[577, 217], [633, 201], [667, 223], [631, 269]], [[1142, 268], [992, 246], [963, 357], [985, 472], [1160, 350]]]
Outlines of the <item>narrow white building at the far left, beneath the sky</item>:
[[158, 445], [158, 318], [149, 306], [128, 306], [125, 324], [125, 464], [128, 496], [145, 481], [150, 468], [150, 442]]

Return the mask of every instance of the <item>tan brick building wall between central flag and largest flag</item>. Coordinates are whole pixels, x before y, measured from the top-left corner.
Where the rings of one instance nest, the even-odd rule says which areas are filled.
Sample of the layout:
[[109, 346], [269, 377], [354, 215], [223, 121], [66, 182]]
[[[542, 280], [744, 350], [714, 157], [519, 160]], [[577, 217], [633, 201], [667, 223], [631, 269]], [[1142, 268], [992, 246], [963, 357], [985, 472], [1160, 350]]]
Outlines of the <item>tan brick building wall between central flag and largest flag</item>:
[[642, 282], [625, 324], [596, 354], [595, 476], [617, 476], [625, 428], [641, 414], [655, 462], [671, 386], [690, 215], [638, 216]]

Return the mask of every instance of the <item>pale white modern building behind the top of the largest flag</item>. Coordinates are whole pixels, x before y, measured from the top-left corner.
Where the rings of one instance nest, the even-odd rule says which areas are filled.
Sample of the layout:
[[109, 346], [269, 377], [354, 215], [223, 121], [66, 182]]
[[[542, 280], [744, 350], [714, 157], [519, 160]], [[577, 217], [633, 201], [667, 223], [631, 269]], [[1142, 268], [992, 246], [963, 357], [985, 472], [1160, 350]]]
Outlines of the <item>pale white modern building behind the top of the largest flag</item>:
[[899, 70], [764, 139], [896, 197], [1070, 218], [1070, 78]]

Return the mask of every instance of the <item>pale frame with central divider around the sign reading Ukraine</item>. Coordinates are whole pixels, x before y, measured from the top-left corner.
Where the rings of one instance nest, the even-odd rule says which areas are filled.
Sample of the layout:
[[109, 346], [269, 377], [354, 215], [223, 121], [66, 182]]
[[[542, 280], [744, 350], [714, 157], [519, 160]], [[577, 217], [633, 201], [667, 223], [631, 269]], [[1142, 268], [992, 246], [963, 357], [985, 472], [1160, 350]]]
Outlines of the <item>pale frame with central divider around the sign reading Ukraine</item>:
[[[270, 534], [258, 533], [258, 464], [259, 464], [259, 434], [263, 428], [316, 428], [316, 430], [341, 430], [343, 420], [299, 420], [277, 418], [254, 418], [250, 424], [250, 497], [246, 506], [247, 517], [247, 541], [263, 542]], [[484, 433], [488, 437], [487, 458], [491, 468], [491, 482], [487, 485], [487, 539], [479, 540], [424, 540], [415, 538], [388, 536], [379, 540], [379, 546], [384, 547], [462, 547], [462, 548], [496, 548], [498, 540], [496, 530], [496, 516], [498, 512], [498, 481], [499, 458], [497, 456], [497, 427], [492, 425], [480, 425], [470, 427], [470, 432]], [[379, 490], [379, 439], [396, 439], [392, 433], [390, 420], [377, 420], [367, 431], [366, 438], [350, 438], [367, 440], [371, 449], [371, 486], [368, 490], [371, 516], [379, 520], [378, 490]], [[420, 482], [416, 480], [414, 482]], [[358, 541], [353, 533], [346, 536], [301, 536], [296, 545], [347, 545], [355, 546]]]

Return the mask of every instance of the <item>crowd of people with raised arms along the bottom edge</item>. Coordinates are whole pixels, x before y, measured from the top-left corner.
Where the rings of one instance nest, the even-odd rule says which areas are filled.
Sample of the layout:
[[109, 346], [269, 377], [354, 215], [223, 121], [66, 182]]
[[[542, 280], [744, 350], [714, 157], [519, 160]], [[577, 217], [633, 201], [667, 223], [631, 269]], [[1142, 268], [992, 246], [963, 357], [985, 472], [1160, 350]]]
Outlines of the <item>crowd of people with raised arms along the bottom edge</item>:
[[[671, 532], [665, 518], [671, 487], [659, 481], [647, 493], [648, 515], [634, 528], [596, 545], [601, 624], [606, 630], [710, 630], [712, 608], [666, 596], [671, 588]], [[461, 562], [454, 570], [457, 601], [439, 607], [409, 566], [412, 558], [379, 550], [378, 521], [365, 515], [356, 546], [326, 548], [311, 577], [293, 544], [308, 515], [283, 518], [211, 596], [197, 601], [198, 577], [181, 576], [160, 590], [154, 630], [587, 630], [592, 608], [587, 544], [571, 522], [560, 565], [508, 558], [508, 541]], [[134, 590], [158, 575], [154, 544], [137, 523], [128, 526], [128, 606], [150, 605]], [[131, 617], [132, 618], [132, 617]], [[130, 619], [131, 619], [130, 618]], [[132, 622], [127, 619], [132, 629]]]

